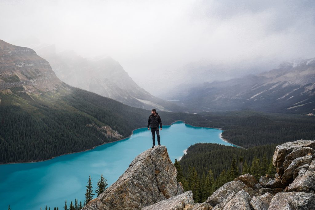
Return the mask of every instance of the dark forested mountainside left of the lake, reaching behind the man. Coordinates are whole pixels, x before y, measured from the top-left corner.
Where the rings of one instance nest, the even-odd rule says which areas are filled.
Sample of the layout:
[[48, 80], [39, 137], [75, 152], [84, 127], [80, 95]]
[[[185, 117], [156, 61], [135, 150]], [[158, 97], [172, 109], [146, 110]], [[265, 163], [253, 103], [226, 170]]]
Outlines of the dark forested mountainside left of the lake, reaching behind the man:
[[[150, 111], [64, 84], [55, 92], [0, 92], [0, 163], [46, 160], [128, 137]], [[201, 116], [163, 112], [163, 124]], [[189, 119], [189, 120], [188, 120]]]

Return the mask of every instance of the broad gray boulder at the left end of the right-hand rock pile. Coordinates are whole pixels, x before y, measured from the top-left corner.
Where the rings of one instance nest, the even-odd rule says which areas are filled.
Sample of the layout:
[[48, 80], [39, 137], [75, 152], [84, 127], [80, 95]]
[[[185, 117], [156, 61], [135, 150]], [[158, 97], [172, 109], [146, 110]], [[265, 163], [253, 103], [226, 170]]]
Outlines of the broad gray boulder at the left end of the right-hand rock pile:
[[206, 200], [211, 206], [216, 206], [224, 201], [231, 193], [237, 193], [240, 190], [245, 190], [250, 196], [254, 196], [254, 190], [246, 186], [242, 181], [232, 181], [224, 184]]

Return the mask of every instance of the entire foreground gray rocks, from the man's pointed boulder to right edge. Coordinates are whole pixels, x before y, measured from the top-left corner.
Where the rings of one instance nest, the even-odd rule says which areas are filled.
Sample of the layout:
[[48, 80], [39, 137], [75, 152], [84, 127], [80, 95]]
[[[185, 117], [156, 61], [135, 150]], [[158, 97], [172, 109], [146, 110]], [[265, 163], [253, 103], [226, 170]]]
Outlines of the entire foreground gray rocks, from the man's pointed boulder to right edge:
[[137, 156], [129, 168], [85, 210], [293, 210], [315, 209], [315, 141], [298, 140], [277, 146], [275, 177], [256, 180], [245, 174], [217, 189], [204, 203], [183, 192], [165, 146]]

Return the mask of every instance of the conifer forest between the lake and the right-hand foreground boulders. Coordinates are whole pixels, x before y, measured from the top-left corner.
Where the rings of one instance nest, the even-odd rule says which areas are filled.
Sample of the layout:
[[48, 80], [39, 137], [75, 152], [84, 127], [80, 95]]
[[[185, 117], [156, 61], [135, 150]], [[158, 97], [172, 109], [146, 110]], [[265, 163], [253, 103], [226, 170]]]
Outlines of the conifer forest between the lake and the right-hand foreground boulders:
[[195, 202], [204, 202], [216, 189], [241, 174], [250, 173], [257, 180], [266, 174], [274, 176], [271, 157], [276, 145], [261, 145], [248, 150], [210, 143], [188, 148], [175, 167], [177, 180], [184, 190], [192, 190]]

